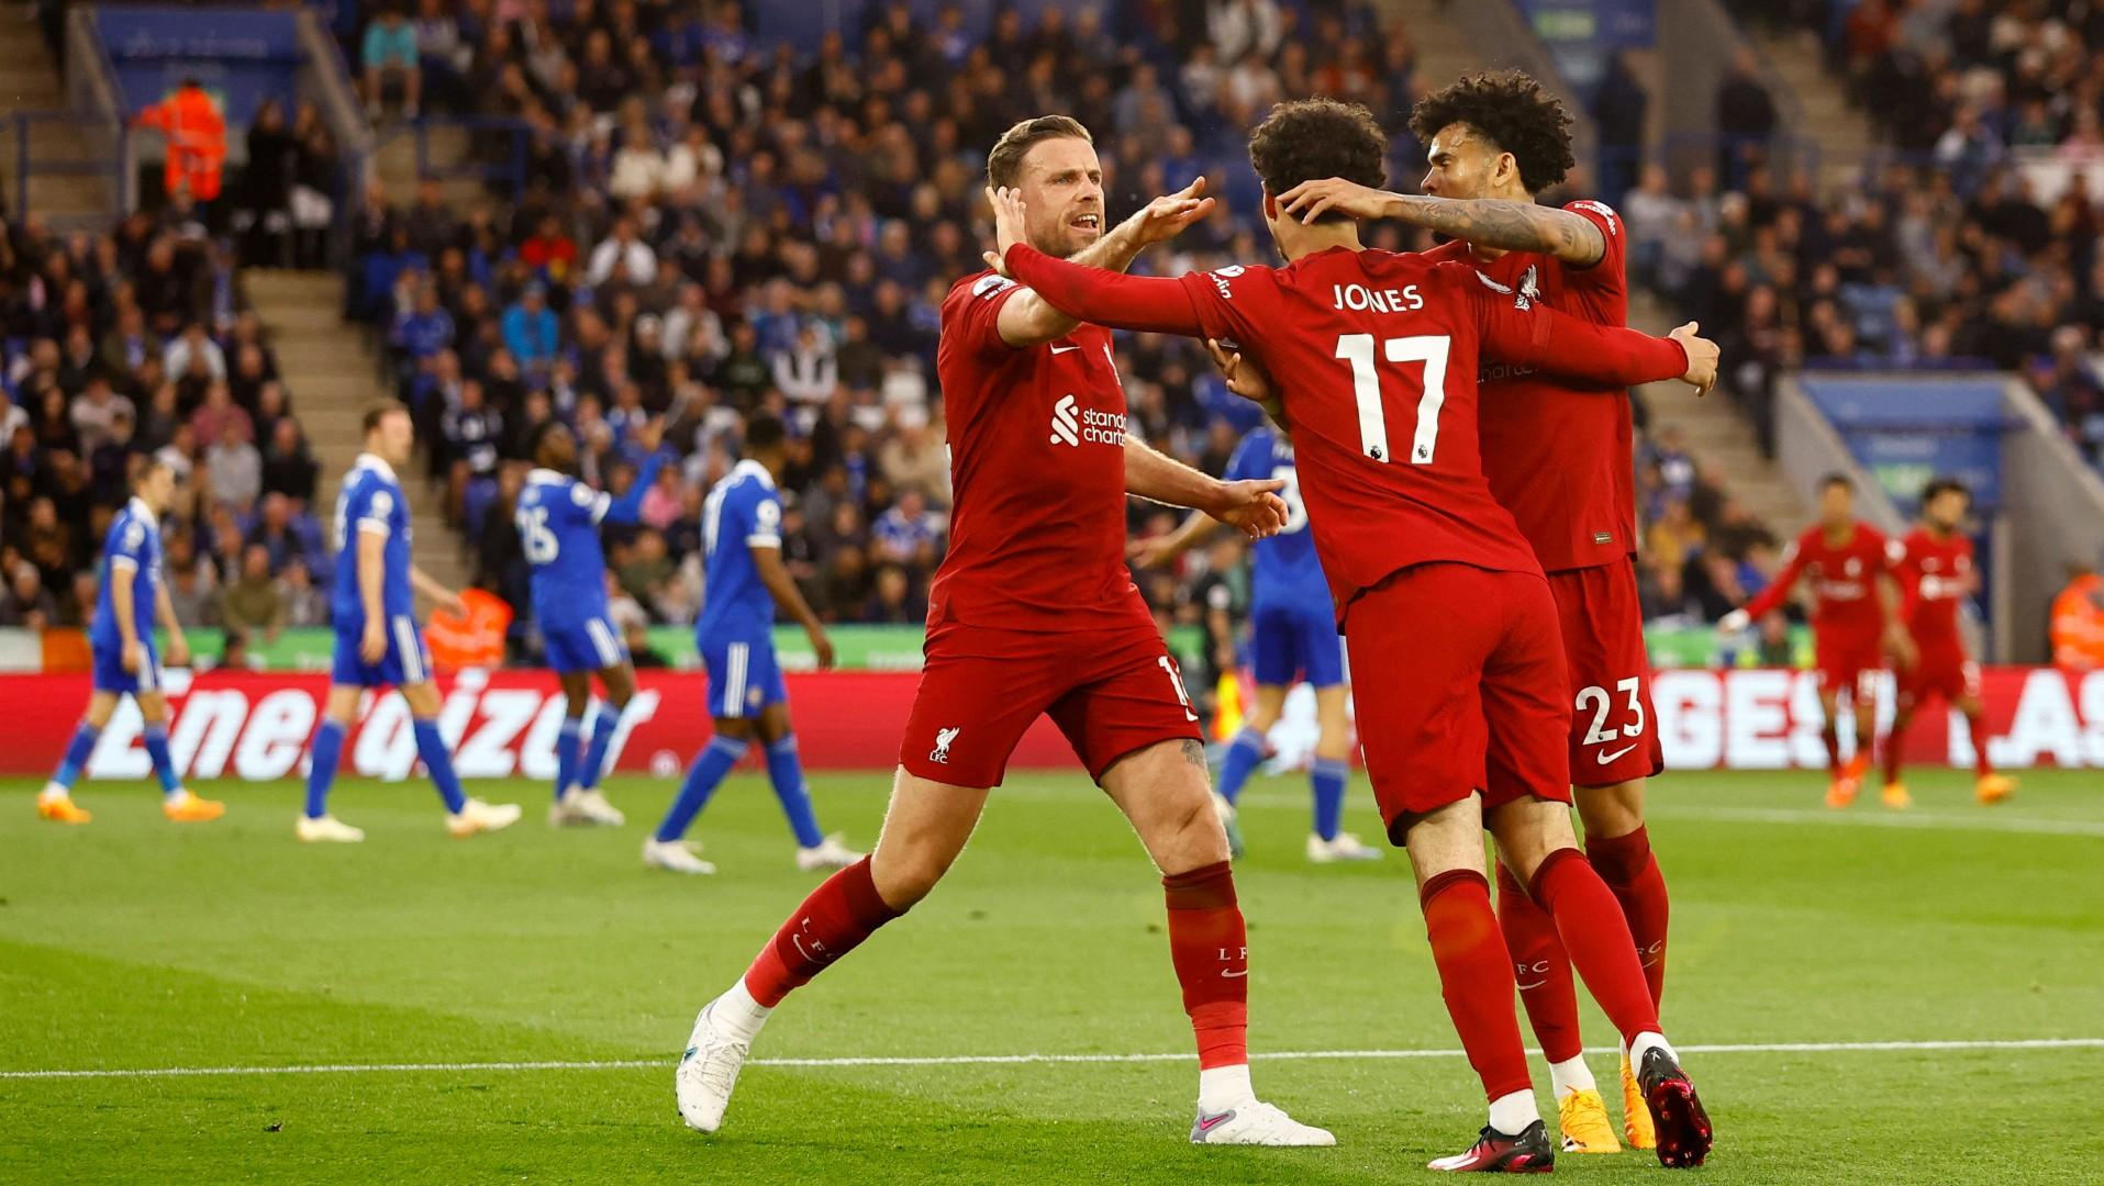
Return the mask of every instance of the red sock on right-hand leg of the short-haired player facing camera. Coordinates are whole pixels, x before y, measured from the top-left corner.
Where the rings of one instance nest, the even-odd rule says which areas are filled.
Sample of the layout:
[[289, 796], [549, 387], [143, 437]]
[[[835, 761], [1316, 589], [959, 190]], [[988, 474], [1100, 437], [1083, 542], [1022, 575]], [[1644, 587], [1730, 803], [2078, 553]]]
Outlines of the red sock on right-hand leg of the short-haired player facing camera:
[[1174, 873], [1161, 879], [1161, 896], [1199, 1070], [1250, 1062], [1250, 938], [1233, 868], [1220, 860]]

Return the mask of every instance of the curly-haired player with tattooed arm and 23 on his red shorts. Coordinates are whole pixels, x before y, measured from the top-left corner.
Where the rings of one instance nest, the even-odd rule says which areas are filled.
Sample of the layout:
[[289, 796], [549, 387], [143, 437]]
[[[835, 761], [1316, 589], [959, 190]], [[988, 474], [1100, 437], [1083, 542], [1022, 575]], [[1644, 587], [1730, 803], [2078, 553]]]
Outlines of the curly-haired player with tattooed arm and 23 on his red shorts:
[[[1464, 76], [1418, 101], [1412, 130], [1431, 145], [1424, 198], [1332, 177], [1279, 196], [1288, 214], [1328, 210], [1399, 219], [1452, 242], [1429, 259], [1471, 263], [1513, 292], [1595, 326], [1628, 322], [1622, 223], [1599, 202], [1561, 210], [1534, 196], [1572, 168], [1570, 116], [1521, 71]], [[1637, 604], [1635, 429], [1626, 391], [1523, 366], [1477, 376], [1483, 475], [1549, 574], [1563, 627], [1570, 763], [1586, 860], [1614, 890], [1643, 959], [1652, 999], [1666, 972], [1666, 881], [1643, 826], [1643, 780], [1664, 770], [1652, 730], [1652, 664]], [[1578, 995], [1555, 921], [1498, 864], [1498, 923], [1519, 969], [1528, 1020], [1549, 1058], [1567, 1152], [1618, 1152], [1605, 1102], [1584, 1064]], [[1628, 1142], [1652, 1148], [1652, 1123], [1622, 1060]]]

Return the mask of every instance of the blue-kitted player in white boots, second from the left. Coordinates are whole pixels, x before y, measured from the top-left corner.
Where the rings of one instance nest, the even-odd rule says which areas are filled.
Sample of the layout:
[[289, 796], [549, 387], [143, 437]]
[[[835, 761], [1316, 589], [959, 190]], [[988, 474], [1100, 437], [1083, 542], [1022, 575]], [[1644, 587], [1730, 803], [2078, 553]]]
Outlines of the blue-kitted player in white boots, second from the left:
[[313, 730], [313, 768], [307, 772], [307, 812], [299, 818], [303, 841], [356, 843], [366, 833], [328, 814], [328, 786], [337, 780], [343, 736], [358, 715], [358, 700], [370, 688], [402, 690], [423, 759], [440, 799], [446, 801], [446, 831], [471, 837], [520, 818], [518, 803], [484, 803], [461, 791], [452, 753], [438, 732], [438, 686], [431, 683], [431, 652], [412, 614], [412, 593], [461, 610], [461, 597], [425, 576], [410, 561], [408, 503], [396, 467], [408, 465], [414, 427], [402, 404], [366, 410], [366, 452], [343, 475], [337, 492], [337, 589], [328, 618], [337, 627], [337, 656], [328, 683], [328, 707]]

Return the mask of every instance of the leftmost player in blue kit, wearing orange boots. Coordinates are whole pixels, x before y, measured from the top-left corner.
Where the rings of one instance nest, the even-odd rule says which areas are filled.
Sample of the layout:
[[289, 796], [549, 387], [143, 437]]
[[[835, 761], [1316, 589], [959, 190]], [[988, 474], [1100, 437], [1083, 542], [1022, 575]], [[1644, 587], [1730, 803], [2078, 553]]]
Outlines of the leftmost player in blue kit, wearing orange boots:
[[154, 648], [154, 620], [168, 631], [168, 662], [189, 664], [189, 641], [175, 620], [168, 587], [160, 582], [160, 517], [175, 505], [175, 471], [147, 458], [133, 475], [133, 498], [109, 522], [103, 540], [103, 570], [95, 593], [95, 622], [88, 643], [95, 652], [95, 694], [88, 711], [65, 747], [65, 761], [36, 797], [36, 814], [61, 824], [84, 824], [93, 816], [74, 803], [74, 780], [95, 753], [103, 725], [118, 711], [118, 700], [130, 696], [145, 719], [145, 753], [160, 776], [160, 812], [179, 824], [217, 820], [223, 803], [198, 799], [183, 789], [168, 755], [168, 698], [160, 688], [160, 654]]

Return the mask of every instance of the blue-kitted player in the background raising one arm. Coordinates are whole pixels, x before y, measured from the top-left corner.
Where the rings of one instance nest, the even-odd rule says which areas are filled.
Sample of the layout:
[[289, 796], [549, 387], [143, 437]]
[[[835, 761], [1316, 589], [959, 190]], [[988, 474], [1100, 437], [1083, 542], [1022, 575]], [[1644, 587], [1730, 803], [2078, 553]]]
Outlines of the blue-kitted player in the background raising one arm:
[[[663, 425], [640, 425], [635, 444], [644, 450], [642, 469], [621, 498], [585, 486], [576, 469], [576, 435], [562, 421], [549, 421], [534, 439], [534, 458], [526, 488], [520, 492], [513, 519], [526, 564], [532, 566], [532, 616], [541, 625], [541, 646], [547, 667], [562, 683], [564, 719], [555, 736], [555, 801], [547, 822], [621, 826], [621, 814], [600, 793], [606, 772], [606, 751], [629, 698], [635, 696], [635, 664], [621, 631], [606, 616], [606, 553], [600, 551], [600, 524], [633, 524], [644, 492], [656, 479], [665, 461], [659, 456]], [[591, 673], [600, 673], [606, 700], [591, 717], [591, 744], [585, 749], [585, 707], [591, 702]], [[583, 749], [583, 761], [579, 761]]]

